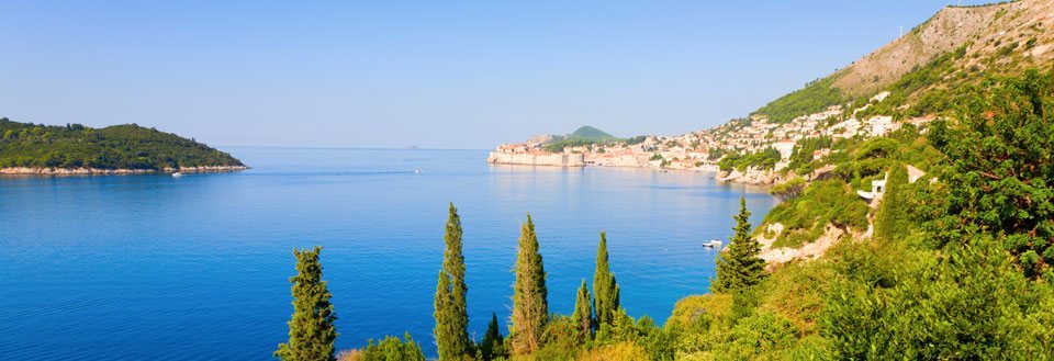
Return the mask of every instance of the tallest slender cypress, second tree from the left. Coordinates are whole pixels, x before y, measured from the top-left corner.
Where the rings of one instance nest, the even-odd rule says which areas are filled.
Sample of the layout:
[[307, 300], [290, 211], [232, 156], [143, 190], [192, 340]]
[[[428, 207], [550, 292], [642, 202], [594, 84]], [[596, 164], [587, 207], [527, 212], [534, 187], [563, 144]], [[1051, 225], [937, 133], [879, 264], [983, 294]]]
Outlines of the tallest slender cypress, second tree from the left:
[[442, 255], [442, 270], [436, 286], [435, 318], [436, 345], [440, 360], [462, 360], [472, 354], [472, 341], [469, 339], [469, 314], [466, 302], [468, 285], [464, 284], [464, 256], [461, 252], [461, 217], [458, 208], [450, 203], [444, 234], [446, 250]]

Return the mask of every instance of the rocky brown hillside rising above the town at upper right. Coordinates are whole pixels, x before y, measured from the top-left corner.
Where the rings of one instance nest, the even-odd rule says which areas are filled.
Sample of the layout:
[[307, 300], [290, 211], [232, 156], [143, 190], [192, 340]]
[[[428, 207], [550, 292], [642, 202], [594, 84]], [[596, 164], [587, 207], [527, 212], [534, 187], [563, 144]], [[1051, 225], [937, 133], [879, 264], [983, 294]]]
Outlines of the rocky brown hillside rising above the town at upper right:
[[862, 105], [884, 91], [890, 92], [888, 109], [918, 108], [939, 100], [924, 99], [928, 93], [1050, 67], [1052, 13], [1049, 0], [946, 7], [904, 36], [753, 115], [786, 123], [830, 105]]

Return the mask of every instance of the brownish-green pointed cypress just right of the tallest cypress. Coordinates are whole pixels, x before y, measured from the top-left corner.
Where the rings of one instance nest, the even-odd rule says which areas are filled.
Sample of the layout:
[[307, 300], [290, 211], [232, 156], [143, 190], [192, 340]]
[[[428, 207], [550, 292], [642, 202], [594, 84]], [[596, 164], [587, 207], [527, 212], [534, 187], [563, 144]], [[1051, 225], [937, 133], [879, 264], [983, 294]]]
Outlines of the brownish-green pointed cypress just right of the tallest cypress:
[[529, 354], [541, 347], [542, 331], [549, 320], [546, 301], [546, 270], [538, 252], [535, 224], [527, 215], [520, 227], [519, 251], [516, 253], [516, 282], [513, 284], [513, 327], [508, 337], [513, 352]]

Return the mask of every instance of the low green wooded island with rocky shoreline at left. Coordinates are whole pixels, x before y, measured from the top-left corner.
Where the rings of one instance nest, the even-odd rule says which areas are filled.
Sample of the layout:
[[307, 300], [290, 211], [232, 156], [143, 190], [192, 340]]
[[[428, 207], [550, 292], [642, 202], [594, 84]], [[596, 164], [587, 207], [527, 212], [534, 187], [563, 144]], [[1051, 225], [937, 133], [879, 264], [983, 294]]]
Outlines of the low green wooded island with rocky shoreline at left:
[[0, 174], [124, 174], [248, 169], [194, 139], [136, 124], [92, 128], [0, 117]]

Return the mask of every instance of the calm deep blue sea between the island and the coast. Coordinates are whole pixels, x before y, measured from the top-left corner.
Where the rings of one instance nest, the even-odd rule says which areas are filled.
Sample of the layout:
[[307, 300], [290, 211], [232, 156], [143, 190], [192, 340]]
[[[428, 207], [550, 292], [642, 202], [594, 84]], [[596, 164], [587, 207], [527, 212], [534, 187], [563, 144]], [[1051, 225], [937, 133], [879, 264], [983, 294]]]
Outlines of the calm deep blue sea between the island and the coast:
[[[713, 174], [489, 166], [480, 150], [225, 149], [226, 174], [0, 179], [0, 354], [14, 360], [260, 360], [287, 338], [294, 247], [324, 246], [339, 349], [408, 330], [435, 356], [447, 202], [464, 226], [470, 332], [512, 307], [535, 219], [550, 311], [570, 313], [607, 230], [623, 305], [665, 320], [703, 293], [740, 194]], [[415, 169], [421, 172], [416, 173]]]

